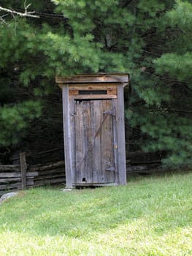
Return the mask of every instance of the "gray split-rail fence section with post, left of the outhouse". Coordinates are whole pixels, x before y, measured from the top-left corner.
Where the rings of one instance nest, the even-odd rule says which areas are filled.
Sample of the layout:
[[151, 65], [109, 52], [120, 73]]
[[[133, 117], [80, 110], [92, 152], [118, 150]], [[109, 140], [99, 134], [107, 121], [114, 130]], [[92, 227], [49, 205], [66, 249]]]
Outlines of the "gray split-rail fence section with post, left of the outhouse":
[[26, 154], [20, 153], [19, 165], [0, 165], [0, 195], [65, 182], [64, 161], [47, 165], [27, 165]]

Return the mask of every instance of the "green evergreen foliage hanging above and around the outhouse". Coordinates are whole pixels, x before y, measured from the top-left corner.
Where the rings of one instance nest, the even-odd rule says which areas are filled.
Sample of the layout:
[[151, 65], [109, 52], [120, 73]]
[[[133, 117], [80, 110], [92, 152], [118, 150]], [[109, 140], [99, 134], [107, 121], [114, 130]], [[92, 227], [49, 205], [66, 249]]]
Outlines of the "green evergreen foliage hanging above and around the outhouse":
[[[23, 1], [1, 5], [20, 10]], [[1, 145], [17, 143], [40, 115], [55, 75], [128, 72], [126, 116], [147, 138], [142, 148], [191, 163], [191, 1], [35, 0], [33, 9], [39, 19], [0, 24]]]

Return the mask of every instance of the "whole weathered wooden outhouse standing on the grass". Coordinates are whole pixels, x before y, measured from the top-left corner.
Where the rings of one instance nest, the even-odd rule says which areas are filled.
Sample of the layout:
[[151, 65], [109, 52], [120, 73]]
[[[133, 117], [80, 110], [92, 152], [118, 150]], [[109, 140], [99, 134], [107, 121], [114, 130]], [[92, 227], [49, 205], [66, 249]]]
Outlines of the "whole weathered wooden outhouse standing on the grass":
[[66, 187], [126, 184], [128, 74], [56, 77], [63, 93]]

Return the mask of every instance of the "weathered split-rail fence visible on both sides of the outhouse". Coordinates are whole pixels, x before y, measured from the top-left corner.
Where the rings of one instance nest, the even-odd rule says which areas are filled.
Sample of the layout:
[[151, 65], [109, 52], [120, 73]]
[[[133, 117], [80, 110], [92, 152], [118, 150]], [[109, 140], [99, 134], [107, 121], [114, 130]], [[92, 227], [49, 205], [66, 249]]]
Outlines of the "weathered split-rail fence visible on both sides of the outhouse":
[[[58, 148], [52, 151], [58, 151]], [[41, 156], [42, 153], [49, 154], [50, 151], [41, 152]], [[43, 158], [48, 159], [49, 157]], [[28, 165], [25, 153], [20, 153], [19, 158], [16, 159], [19, 160], [17, 165], [0, 165], [0, 196], [8, 191], [53, 184], [65, 184], [64, 161]], [[126, 160], [127, 175], [150, 174], [154, 170], [155, 172], [161, 171], [161, 160], [155, 154], [143, 153], [141, 151], [128, 152]]]

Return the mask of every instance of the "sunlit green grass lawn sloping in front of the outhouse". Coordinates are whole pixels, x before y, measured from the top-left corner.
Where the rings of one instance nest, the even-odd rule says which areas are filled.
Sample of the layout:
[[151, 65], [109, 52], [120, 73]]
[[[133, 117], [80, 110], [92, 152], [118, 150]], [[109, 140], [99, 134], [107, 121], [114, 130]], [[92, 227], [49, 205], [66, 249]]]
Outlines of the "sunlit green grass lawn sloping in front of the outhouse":
[[0, 255], [192, 255], [191, 185], [177, 173], [20, 192], [0, 206]]

